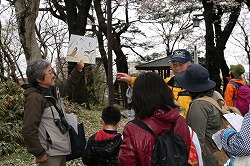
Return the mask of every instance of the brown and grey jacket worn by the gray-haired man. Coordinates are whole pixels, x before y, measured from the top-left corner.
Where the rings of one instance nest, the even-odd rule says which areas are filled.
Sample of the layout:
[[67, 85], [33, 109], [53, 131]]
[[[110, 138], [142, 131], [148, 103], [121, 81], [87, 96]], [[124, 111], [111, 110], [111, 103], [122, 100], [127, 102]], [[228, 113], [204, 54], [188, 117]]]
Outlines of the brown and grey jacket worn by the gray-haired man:
[[68, 95], [79, 82], [81, 75], [81, 72], [74, 69], [67, 80], [57, 83], [57, 86], [50, 89], [31, 85], [23, 86], [25, 105], [22, 134], [28, 152], [35, 157], [42, 157], [45, 153], [49, 156], [70, 153], [69, 134], [68, 132], [62, 134], [56, 126], [54, 119], [60, 117], [49, 99], [52, 99], [65, 114], [61, 96]]

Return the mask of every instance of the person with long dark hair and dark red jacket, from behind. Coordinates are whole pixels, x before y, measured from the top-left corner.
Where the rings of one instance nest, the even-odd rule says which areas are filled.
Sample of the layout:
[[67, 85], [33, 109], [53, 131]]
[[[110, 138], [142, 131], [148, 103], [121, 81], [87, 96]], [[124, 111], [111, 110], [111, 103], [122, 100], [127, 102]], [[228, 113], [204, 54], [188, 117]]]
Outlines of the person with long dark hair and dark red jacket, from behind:
[[[156, 134], [172, 125], [189, 152], [190, 133], [186, 120], [180, 115], [172, 91], [158, 74], [143, 73], [133, 87], [132, 101], [135, 118], [143, 121]], [[136, 124], [129, 122], [123, 130], [123, 142], [118, 155], [119, 166], [151, 166], [156, 137]]]

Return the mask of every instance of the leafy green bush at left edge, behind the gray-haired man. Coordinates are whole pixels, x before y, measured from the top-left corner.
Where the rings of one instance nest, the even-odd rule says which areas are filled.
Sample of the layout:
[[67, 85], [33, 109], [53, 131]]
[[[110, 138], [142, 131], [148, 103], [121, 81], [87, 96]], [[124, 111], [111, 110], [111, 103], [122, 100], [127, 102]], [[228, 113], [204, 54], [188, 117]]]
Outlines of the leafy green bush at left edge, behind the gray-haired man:
[[22, 88], [15, 82], [0, 84], [0, 156], [10, 154], [23, 145], [21, 134], [23, 103]]

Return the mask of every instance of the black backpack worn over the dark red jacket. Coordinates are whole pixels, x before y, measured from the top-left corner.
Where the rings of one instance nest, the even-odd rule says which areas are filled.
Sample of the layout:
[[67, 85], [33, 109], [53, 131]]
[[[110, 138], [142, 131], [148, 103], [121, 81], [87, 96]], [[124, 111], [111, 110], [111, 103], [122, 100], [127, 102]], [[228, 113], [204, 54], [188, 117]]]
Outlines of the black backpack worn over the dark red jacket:
[[153, 150], [153, 166], [189, 166], [188, 151], [182, 137], [174, 134], [174, 124], [170, 130], [162, 130], [158, 135], [155, 134], [144, 122], [134, 119], [131, 122], [156, 136]]

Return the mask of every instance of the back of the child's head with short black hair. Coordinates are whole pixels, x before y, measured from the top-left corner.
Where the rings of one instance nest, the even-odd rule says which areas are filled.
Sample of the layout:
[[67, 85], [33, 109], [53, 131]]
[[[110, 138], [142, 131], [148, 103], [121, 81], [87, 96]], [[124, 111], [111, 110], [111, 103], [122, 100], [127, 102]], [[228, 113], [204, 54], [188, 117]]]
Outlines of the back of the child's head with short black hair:
[[117, 108], [107, 106], [102, 110], [102, 120], [105, 125], [115, 126], [121, 120], [121, 113]]

